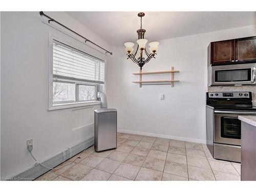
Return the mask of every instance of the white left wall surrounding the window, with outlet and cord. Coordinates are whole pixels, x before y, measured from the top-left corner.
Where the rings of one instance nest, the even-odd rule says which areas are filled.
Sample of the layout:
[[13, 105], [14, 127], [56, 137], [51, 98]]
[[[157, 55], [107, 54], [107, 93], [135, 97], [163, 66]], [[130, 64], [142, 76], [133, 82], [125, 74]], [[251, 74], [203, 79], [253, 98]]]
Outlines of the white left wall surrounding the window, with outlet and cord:
[[[59, 22], [95, 41], [111, 47], [65, 12], [48, 12]], [[1, 15], [1, 175], [6, 177], [34, 164], [26, 140], [34, 140], [38, 160], [94, 135], [93, 111], [100, 107], [73, 111], [48, 111], [49, 32], [89, 53], [101, 54], [72, 37], [41, 22], [39, 12], [2, 12]], [[80, 109], [80, 108], [76, 108]], [[81, 129], [73, 130], [82, 126]], [[72, 131], [73, 130], [73, 131]]]

